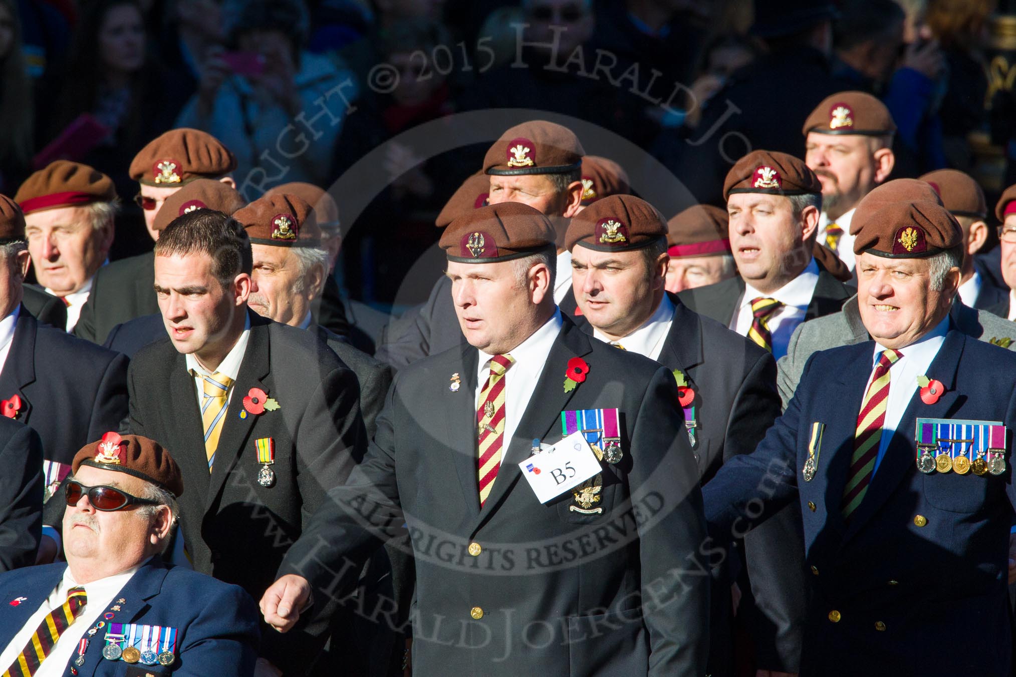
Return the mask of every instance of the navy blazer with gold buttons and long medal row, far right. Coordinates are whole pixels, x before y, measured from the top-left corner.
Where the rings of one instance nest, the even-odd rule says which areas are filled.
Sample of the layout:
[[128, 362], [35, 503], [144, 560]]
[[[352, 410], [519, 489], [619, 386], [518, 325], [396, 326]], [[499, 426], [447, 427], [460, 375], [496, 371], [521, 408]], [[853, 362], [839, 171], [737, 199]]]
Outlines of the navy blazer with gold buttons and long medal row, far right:
[[[999, 476], [925, 475], [914, 464], [913, 431], [918, 417], [1003, 421], [1011, 448], [1016, 354], [950, 331], [928, 370], [946, 393], [929, 405], [913, 385], [868, 493], [846, 523], [839, 506], [874, 349], [867, 341], [809, 359], [793, 399], [758, 449], [729, 460], [703, 487], [710, 531], [728, 540], [800, 499], [813, 593], [803, 677], [1009, 675], [1011, 455]], [[805, 481], [816, 421], [825, 424], [818, 470]], [[967, 639], [956, 644], [959, 636]]]

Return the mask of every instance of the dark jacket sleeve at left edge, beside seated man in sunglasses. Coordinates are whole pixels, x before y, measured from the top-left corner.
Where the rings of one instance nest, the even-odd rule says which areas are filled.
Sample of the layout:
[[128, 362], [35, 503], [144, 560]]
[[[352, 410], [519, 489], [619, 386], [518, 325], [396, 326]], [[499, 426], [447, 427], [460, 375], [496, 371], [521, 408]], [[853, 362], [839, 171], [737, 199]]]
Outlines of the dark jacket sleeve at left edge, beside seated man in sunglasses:
[[43, 528], [43, 446], [27, 425], [0, 416], [0, 572], [36, 563]]

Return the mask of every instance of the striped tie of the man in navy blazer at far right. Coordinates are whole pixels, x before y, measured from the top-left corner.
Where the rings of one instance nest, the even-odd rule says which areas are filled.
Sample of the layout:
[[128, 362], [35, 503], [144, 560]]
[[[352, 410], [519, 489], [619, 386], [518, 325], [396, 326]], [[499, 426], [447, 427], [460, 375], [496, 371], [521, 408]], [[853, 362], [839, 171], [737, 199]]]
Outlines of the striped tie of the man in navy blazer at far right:
[[879, 443], [882, 441], [882, 426], [886, 420], [889, 367], [902, 356], [903, 353], [892, 348], [882, 351], [872, 375], [872, 385], [868, 387], [865, 400], [861, 403], [858, 428], [853, 433], [853, 456], [850, 457], [850, 470], [846, 474], [843, 501], [839, 507], [844, 520], [850, 518], [868, 493], [868, 484], [875, 472], [875, 459], [879, 455]]

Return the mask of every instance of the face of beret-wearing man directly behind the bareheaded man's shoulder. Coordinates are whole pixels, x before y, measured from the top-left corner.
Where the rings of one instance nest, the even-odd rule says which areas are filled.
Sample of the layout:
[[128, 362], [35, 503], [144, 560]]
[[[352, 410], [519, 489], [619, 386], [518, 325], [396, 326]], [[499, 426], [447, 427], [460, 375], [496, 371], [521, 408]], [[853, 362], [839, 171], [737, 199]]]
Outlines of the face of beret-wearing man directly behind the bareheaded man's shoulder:
[[[310, 313], [311, 300], [317, 285], [304, 280], [300, 284], [300, 262], [290, 247], [251, 245], [254, 251], [254, 291], [247, 304], [258, 315], [271, 318], [283, 325], [299, 326]], [[314, 271], [308, 271], [308, 276]], [[317, 278], [320, 279], [320, 278]]]

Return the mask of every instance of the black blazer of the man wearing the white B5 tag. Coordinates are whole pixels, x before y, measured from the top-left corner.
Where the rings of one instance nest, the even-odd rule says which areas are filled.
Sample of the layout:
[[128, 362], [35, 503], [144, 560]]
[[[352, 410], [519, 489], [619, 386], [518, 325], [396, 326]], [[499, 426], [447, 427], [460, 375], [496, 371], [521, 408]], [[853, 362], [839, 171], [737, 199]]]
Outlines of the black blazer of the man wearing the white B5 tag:
[[[566, 392], [574, 357], [589, 370]], [[367, 459], [329, 492], [280, 573], [308, 578], [315, 602], [340, 595], [356, 573], [347, 562], [404, 519], [420, 674], [704, 674], [708, 564], [695, 563], [698, 473], [674, 377], [565, 319], [481, 507], [478, 359], [471, 346], [453, 348], [396, 375]], [[625, 456], [601, 464], [602, 513], [571, 510], [572, 491], [542, 504], [518, 465], [533, 438], [559, 442], [562, 411], [604, 407], [622, 412]], [[696, 573], [685, 576], [689, 567]], [[534, 641], [526, 633], [537, 625]]]

